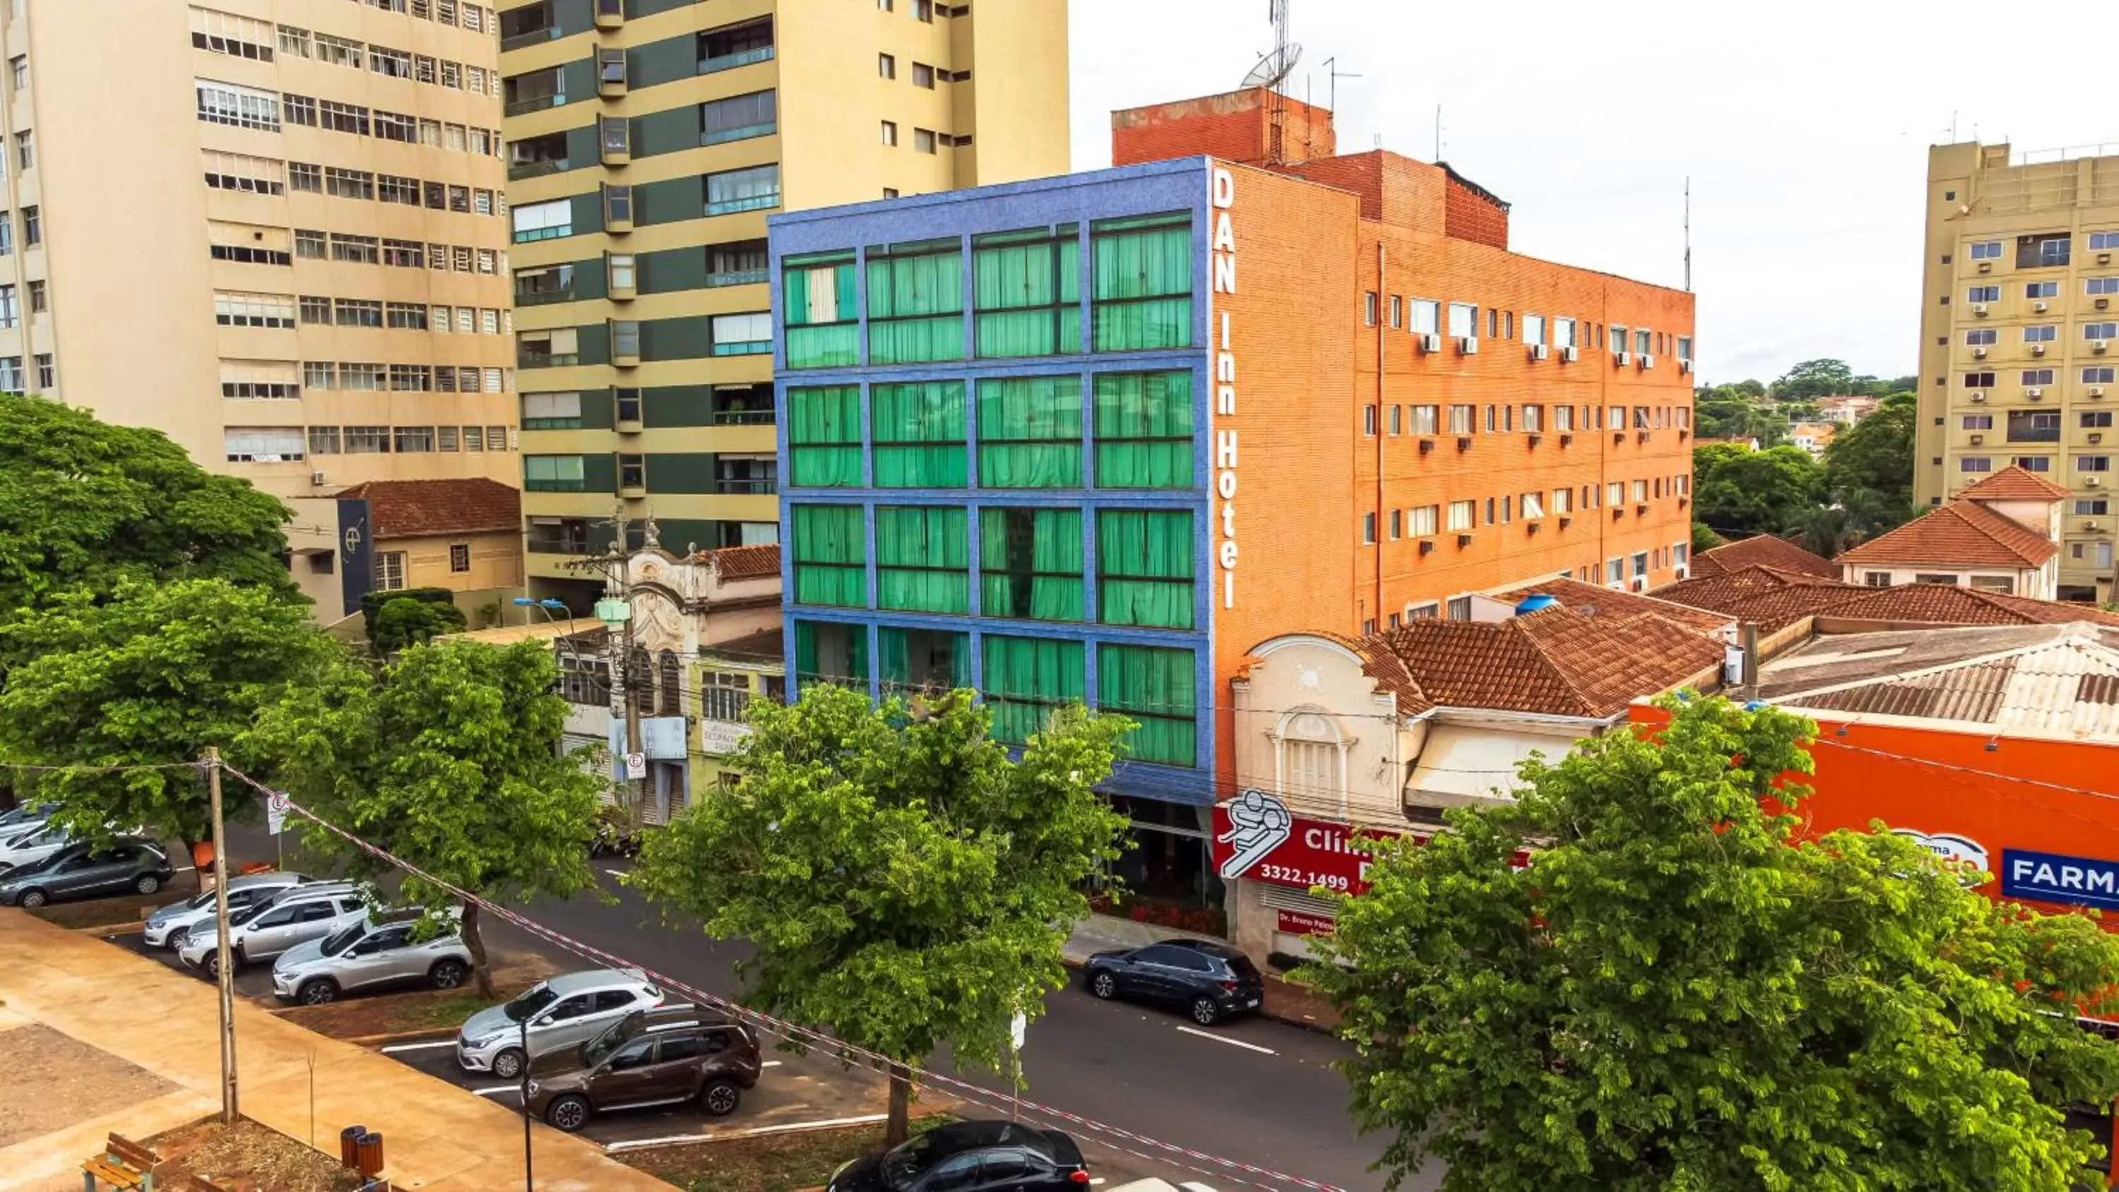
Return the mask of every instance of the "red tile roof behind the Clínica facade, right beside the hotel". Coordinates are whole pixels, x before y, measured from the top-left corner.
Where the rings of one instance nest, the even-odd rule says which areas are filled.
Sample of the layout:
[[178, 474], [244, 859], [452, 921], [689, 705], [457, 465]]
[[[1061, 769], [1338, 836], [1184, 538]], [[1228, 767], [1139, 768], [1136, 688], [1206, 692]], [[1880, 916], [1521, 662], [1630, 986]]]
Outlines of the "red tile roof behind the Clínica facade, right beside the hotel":
[[1723, 646], [1661, 616], [1566, 606], [1500, 622], [1413, 620], [1379, 642], [1430, 705], [1604, 718], [1721, 663]]

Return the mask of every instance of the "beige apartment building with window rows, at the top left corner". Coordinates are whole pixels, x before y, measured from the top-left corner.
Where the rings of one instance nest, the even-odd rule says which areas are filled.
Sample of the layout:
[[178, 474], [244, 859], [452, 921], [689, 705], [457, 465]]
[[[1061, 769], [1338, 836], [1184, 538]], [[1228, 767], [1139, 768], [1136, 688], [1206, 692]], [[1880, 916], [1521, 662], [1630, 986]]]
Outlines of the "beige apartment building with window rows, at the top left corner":
[[286, 500], [322, 620], [392, 582], [341, 489], [519, 485], [496, 30], [462, 0], [0, 0], [0, 390]]

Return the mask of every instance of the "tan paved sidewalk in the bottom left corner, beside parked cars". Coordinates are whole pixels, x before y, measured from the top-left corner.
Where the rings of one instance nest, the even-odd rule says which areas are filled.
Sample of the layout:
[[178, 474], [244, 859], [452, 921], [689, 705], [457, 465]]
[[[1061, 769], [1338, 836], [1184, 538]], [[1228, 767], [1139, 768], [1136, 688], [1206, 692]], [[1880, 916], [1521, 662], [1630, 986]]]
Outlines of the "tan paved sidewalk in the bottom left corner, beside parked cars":
[[[81, 1188], [81, 1160], [117, 1131], [148, 1137], [220, 1107], [214, 987], [93, 936], [0, 910], [0, 1031], [38, 1023], [172, 1084], [66, 1128], [0, 1148], [0, 1188]], [[384, 1135], [398, 1188], [489, 1192], [521, 1186], [523, 1124], [483, 1097], [392, 1059], [305, 1031], [235, 1001], [235, 1054], [246, 1118], [335, 1152], [339, 1128]], [[17, 1090], [28, 1092], [28, 1090]], [[536, 1126], [536, 1186], [547, 1192], [646, 1192], [670, 1186], [581, 1139]]]

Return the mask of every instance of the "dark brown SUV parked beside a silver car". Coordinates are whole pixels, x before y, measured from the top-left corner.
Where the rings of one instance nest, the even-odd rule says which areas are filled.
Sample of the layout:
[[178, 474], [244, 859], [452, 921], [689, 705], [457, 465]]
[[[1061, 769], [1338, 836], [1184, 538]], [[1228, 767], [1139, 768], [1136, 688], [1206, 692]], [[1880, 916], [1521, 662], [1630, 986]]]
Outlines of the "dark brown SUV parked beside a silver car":
[[562, 1131], [595, 1114], [682, 1105], [720, 1118], [759, 1082], [759, 1040], [697, 1006], [636, 1010], [602, 1035], [530, 1063], [530, 1112]]

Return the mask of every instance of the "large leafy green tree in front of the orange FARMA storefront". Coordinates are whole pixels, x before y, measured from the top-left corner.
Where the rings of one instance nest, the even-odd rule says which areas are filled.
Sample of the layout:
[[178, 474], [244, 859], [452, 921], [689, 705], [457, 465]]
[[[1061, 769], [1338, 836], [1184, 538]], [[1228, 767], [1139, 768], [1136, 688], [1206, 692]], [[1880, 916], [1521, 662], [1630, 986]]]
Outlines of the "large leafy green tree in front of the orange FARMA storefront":
[[[1526, 762], [1515, 805], [1388, 843], [1310, 974], [1356, 1044], [1354, 1116], [1396, 1188], [2064, 1190], [2119, 1095], [2079, 1029], [2119, 940], [1884, 832], [1799, 843], [1808, 720], [1666, 701]], [[1524, 841], [1538, 841], [1526, 870]]]

